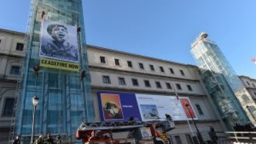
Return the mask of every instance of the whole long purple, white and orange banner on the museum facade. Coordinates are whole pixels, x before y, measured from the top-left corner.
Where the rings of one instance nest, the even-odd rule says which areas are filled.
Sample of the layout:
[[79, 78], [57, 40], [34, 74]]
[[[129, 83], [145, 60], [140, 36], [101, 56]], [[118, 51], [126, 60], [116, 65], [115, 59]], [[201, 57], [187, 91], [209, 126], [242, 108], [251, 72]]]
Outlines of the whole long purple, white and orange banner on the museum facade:
[[185, 121], [191, 119], [185, 103], [190, 105], [190, 113], [197, 119], [189, 98], [185, 97], [177, 100], [175, 96], [112, 92], [99, 92], [98, 96], [102, 121], [127, 121], [130, 117], [135, 121], [164, 121], [165, 114], [174, 121]]

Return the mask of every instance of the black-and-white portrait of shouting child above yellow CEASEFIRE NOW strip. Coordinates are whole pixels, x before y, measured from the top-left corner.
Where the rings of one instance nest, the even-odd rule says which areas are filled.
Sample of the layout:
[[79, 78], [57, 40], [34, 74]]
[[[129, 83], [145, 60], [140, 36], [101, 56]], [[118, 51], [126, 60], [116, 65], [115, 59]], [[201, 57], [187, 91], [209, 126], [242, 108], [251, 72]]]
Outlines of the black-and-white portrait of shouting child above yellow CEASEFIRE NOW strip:
[[39, 56], [78, 63], [77, 27], [43, 20]]

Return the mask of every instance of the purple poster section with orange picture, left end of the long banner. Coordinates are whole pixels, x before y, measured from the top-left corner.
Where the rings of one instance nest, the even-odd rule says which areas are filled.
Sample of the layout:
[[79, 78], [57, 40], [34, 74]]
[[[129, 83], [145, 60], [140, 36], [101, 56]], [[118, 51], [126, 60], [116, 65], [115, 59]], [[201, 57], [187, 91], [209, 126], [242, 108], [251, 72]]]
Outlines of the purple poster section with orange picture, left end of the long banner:
[[141, 121], [138, 104], [133, 93], [98, 93], [101, 121]]

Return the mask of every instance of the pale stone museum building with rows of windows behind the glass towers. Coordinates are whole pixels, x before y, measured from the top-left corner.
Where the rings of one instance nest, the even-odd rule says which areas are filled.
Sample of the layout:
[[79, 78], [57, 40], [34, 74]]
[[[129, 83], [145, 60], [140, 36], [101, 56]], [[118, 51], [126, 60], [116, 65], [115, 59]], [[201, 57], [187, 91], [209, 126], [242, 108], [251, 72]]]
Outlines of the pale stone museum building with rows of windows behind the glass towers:
[[[25, 44], [24, 35], [17, 31], [0, 30], [0, 62], [1, 66], [4, 66], [1, 67], [0, 71], [0, 132], [3, 133], [1, 137], [5, 140], [8, 139], [7, 133], [10, 132], [17, 80], [22, 67], [21, 61], [26, 52], [26, 46], [23, 45]], [[224, 131], [217, 109], [215, 109], [197, 72], [198, 67], [92, 45], [86, 47], [90, 69], [89, 73], [86, 74], [90, 75], [88, 79], [91, 82], [91, 95], [95, 111], [91, 117], [95, 122], [102, 121], [99, 93], [118, 93], [121, 95], [130, 93], [151, 97], [176, 98], [176, 91], [178, 97], [189, 98], [195, 111], [198, 129], [204, 133], [205, 139], [210, 139], [209, 134], [207, 134], [209, 125], [213, 125], [216, 131]], [[80, 81], [79, 75], [77, 82]], [[76, 85], [76, 81], [74, 81], [74, 85]], [[63, 97], [63, 95], [58, 95], [58, 97]], [[54, 98], [56, 98], [56, 101], [59, 99], [57, 96]], [[31, 99], [29, 100], [27, 105], [33, 107]], [[83, 105], [81, 101], [75, 101]], [[61, 115], [56, 116], [57, 120], [61, 118], [63, 118]], [[46, 116], [45, 119], [51, 119], [51, 117]], [[31, 123], [31, 119], [28, 119], [28, 121]], [[194, 125], [191, 122], [190, 125], [195, 132]], [[74, 126], [74, 130], [71, 131], [75, 132], [77, 127]], [[66, 134], [58, 132], [58, 129], [54, 131], [52, 133]], [[188, 138], [191, 134], [187, 121], [175, 121], [175, 129], [170, 131], [170, 134], [173, 135], [174, 141], [187, 141], [187, 139], [183, 139]], [[72, 136], [74, 135], [70, 135], [70, 137]]]

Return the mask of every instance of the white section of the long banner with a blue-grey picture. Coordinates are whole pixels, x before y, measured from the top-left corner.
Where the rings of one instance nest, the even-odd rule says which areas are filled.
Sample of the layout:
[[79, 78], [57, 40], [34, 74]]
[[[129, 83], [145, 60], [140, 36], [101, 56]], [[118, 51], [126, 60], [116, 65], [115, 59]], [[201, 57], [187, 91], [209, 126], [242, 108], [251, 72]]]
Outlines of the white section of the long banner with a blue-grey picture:
[[[174, 121], [190, 119], [186, 116], [180, 100], [175, 96], [135, 94], [142, 121], [164, 121], [165, 114], [170, 115]], [[181, 97], [182, 98], [182, 97]], [[197, 119], [197, 117], [195, 117]]]

